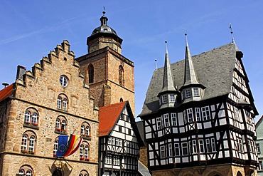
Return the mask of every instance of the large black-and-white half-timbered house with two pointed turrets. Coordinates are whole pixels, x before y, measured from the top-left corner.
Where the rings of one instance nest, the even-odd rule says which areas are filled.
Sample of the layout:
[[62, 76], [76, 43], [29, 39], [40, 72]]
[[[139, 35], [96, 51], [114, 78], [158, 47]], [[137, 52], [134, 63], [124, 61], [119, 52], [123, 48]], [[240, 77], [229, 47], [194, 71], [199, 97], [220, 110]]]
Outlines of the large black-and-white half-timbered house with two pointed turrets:
[[154, 71], [143, 110], [153, 175], [252, 175], [254, 105], [235, 42]]

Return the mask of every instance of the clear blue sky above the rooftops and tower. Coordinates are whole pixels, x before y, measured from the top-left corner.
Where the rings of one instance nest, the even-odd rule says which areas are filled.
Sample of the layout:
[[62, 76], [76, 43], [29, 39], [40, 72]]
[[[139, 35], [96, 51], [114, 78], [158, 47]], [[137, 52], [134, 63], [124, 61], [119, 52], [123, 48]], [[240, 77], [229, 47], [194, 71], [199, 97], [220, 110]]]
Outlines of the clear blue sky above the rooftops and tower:
[[[103, 6], [109, 26], [124, 40], [122, 54], [134, 62], [136, 115], [141, 112], [155, 69], [162, 67], [165, 43], [171, 63], [181, 61], [185, 36], [192, 56], [232, 41], [244, 53], [259, 115], [263, 114], [263, 1], [1, 1], [0, 83], [13, 83], [16, 67], [28, 70], [67, 39], [76, 57], [87, 53], [86, 38], [100, 26]], [[1, 86], [1, 85], [0, 85]], [[257, 116], [256, 120], [259, 118]]]

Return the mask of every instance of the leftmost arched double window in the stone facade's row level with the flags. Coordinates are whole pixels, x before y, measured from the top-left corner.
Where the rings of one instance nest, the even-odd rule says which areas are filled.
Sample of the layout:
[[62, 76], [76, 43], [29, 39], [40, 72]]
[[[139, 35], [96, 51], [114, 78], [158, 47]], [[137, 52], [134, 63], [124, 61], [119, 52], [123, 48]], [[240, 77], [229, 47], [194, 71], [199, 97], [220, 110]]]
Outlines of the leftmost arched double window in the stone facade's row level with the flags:
[[[29, 140], [28, 140], [29, 138]], [[34, 155], [36, 152], [36, 135], [32, 131], [23, 133], [21, 142], [21, 152]]]

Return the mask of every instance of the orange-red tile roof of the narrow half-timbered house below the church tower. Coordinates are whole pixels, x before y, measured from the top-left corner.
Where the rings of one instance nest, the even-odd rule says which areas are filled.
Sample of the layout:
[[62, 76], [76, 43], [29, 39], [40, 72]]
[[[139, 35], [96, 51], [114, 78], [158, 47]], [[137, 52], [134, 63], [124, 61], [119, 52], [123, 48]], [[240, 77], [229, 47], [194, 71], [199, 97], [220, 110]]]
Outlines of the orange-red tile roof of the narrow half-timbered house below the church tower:
[[126, 103], [127, 102], [121, 102], [100, 108], [99, 136], [109, 134], [119, 118], [119, 115], [121, 115]]

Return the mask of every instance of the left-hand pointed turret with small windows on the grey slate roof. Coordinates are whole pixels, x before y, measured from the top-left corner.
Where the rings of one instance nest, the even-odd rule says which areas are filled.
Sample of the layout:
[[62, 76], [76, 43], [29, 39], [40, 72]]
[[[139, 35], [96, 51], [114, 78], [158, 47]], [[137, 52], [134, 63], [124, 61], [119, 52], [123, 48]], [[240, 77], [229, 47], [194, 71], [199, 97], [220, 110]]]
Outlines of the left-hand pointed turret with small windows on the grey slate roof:
[[179, 92], [173, 83], [173, 75], [171, 73], [171, 65], [166, 41], [166, 56], [163, 67], [163, 88], [158, 94], [161, 108], [173, 107], [176, 103], [178, 93]]

